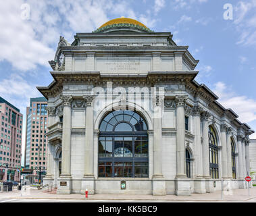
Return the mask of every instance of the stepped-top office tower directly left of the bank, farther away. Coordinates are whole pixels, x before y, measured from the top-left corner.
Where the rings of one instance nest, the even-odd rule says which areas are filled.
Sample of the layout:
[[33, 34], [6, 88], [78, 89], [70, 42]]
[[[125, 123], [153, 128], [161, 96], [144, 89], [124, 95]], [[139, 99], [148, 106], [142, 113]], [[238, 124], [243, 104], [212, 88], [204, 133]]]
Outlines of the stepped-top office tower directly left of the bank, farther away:
[[37, 97], [30, 99], [26, 108], [26, 148], [24, 168], [34, 170], [34, 178], [40, 169], [47, 165], [47, 99]]

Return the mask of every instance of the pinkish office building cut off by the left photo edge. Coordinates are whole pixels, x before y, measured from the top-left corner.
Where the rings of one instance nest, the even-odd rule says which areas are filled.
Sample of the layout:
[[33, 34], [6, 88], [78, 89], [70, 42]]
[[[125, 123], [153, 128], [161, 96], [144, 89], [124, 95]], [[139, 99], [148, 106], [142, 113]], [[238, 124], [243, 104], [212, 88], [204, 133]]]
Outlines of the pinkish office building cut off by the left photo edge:
[[0, 180], [3, 181], [20, 180], [22, 117], [20, 109], [0, 97]]

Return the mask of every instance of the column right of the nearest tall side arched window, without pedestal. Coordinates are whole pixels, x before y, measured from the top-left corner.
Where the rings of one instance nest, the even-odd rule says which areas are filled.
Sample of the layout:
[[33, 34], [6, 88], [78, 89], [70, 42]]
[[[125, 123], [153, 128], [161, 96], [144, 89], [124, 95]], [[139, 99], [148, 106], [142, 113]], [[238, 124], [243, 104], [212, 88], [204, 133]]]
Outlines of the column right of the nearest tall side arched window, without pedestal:
[[228, 161], [227, 161], [227, 140], [226, 140], [226, 128], [227, 124], [220, 126], [220, 138], [222, 140], [222, 178], [228, 178]]

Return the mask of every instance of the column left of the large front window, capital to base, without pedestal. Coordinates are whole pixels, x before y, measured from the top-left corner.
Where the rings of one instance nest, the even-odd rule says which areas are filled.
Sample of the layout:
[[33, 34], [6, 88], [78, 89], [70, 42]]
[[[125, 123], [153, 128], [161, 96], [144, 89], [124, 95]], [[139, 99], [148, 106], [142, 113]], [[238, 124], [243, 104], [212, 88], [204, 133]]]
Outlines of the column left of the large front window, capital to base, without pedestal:
[[85, 154], [84, 154], [84, 177], [93, 175], [93, 99], [95, 96], [86, 95], [86, 124], [85, 124]]

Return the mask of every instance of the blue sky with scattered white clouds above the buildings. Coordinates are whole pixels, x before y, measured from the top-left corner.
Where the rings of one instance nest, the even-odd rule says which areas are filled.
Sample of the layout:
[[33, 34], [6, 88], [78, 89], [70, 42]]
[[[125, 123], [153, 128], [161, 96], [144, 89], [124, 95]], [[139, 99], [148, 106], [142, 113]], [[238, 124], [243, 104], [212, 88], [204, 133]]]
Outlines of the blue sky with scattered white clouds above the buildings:
[[[207, 85], [225, 108], [256, 131], [256, 0], [0, 0], [0, 96], [24, 115], [36, 86], [53, 78], [59, 36], [69, 43], [124, 16], [155, 32], [171, 32], [177, 45], [199, 59], [195, 80]], [[256, 138], [252, 134], [250, 138]]]

